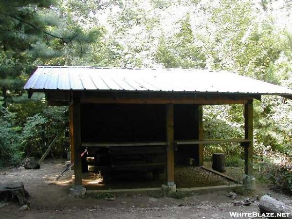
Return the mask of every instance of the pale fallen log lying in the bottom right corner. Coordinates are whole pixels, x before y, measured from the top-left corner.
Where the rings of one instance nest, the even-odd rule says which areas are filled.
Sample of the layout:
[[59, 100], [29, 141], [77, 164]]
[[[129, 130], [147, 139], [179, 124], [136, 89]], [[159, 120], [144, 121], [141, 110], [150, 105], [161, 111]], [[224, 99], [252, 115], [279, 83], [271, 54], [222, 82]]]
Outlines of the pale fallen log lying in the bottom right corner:
[[288, 214], [285, 217], [286, 219], [292, 219], [292, 207], [268, 195], [260, 198], [258, 207], [261, 214], [274, 213], [276, 215], [277, 213], [285, 213], [286, 215]]

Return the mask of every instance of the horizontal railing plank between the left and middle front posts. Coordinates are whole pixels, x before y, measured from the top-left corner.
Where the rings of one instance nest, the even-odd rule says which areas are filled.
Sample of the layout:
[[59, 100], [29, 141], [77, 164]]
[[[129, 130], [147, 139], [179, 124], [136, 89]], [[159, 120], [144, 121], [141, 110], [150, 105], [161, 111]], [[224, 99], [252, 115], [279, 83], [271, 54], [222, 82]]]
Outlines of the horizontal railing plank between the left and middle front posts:
[[117, 142], [82, 142], [83, 147], [126, 147], [126, 146], [166, 146], [167, 142], [128, 142], [128, 143], [117, 143]]

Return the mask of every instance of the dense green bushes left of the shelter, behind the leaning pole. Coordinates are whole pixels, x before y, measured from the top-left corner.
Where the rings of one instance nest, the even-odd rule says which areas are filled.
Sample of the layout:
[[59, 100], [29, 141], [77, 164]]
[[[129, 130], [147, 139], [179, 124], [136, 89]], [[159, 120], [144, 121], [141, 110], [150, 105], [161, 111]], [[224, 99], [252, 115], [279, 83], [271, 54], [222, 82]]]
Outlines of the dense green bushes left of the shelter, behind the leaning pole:
[[[40, 157], [58, 131], [67, 124], [66, 107], [48, 107], [46, 101], [17, 101], [4, 108], [0, 101], [0, 166], [19, 165], [24, 157]], [[61, 135], [52, 155], [67, 155], [68, 138]]]

